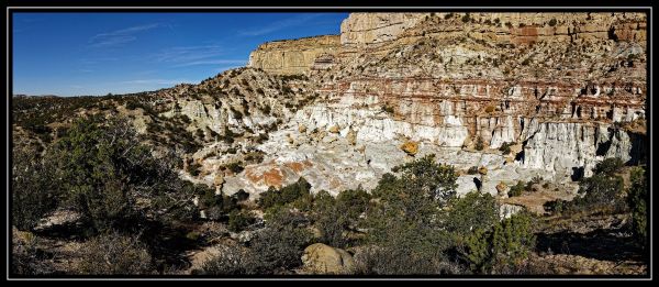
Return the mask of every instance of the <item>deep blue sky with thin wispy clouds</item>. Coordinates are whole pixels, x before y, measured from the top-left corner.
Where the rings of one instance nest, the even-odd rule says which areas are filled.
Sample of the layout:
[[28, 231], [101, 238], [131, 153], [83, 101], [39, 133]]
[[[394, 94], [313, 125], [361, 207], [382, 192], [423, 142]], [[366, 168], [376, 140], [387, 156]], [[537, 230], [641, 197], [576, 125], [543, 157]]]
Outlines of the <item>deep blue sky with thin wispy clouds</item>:
[[338, 34], [347, 13], [14, 13], [13, 93], [108, 95], [197, 84], [259, 44]]

